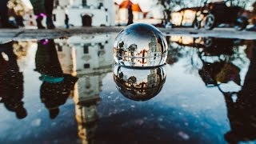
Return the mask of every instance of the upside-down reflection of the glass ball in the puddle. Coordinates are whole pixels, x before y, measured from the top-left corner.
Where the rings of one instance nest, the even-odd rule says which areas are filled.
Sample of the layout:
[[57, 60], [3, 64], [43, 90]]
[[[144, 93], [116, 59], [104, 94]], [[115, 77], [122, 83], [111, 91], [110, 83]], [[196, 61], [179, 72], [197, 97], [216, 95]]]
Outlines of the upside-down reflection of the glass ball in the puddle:
[[114, 66], [114, 82], [123, 96], [134, 101], [154, 98], [166, 82], [166, 69], [158, 66], [151, 69], [132, 69]]

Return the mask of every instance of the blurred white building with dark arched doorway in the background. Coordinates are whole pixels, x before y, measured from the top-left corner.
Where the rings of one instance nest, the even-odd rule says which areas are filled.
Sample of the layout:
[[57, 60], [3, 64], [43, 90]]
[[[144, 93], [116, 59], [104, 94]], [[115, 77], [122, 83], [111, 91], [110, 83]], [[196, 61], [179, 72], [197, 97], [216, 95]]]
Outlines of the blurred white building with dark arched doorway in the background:
[[65, 26], [114, 26], [114, 2], [109, 0], [59, 0], [54, 5], [54, 24]]

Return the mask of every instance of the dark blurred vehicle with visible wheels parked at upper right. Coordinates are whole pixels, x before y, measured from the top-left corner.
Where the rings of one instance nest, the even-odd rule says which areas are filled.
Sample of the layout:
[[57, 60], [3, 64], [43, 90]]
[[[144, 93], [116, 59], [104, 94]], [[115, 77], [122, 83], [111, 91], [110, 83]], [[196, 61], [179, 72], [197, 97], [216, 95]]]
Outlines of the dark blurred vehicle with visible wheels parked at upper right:
[[[227, 6], [229, 3], [230, 6]], [[248, 19], [243, 16], [244, 9], [241, 6], [234, 6], [232, 0], [222, 2], [208, 2], [196, 14], [194, 28], [202, 26], [206, 30], [212, 30], [219, 24], [234, 26], [236, 30], [243, 30], [248, 25]]]

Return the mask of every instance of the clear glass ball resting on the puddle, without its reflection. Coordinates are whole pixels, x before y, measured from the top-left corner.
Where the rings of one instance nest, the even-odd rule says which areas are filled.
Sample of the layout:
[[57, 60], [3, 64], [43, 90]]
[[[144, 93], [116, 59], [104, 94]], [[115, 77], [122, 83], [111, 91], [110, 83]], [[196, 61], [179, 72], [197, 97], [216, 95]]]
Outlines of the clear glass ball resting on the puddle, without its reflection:
[[164, 35], [156, 27], [143, 23], [127, 26], [114, 42], [114, 60], [121, 66], [162, 66], [167, 52]]

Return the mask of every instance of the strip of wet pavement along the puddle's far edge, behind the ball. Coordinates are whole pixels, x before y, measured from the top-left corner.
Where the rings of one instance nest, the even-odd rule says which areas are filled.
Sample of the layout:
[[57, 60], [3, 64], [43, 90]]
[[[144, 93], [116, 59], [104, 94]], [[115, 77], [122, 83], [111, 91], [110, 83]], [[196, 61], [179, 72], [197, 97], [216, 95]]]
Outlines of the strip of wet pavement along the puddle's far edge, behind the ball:
[[[55, 30], [34, 30], [34, 29], [1, 29], [0, 44], [13, 41], [44, 39], [44, 38], [65, 38], [74, 35], [94, 35], [106, 33], [118, 33], [124, 27], [72, 27], [70, 29], [58, 28]], [[195, 30], [194, 28], [158, 28], [165, 35], [190, 35], [191, 37], [215, 37], [215, 38], [242, 38], [256, 39], [255, 31], [234, 30], [234, 28], [214, 28], [214, 30]]]

